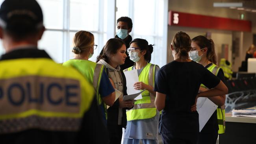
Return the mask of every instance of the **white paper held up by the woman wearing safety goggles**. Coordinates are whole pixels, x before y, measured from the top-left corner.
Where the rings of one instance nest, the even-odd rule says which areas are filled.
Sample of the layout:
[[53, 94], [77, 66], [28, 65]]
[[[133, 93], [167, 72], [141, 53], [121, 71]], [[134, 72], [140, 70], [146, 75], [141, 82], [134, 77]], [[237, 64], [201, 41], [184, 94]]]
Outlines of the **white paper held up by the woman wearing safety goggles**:
[[[134, 83], [139, 82], [139, 76], [137, 70], [130, 70], [124, 72], [125, 78], [126, 78], [126, 87], [127, 87], [127, 94], [137, 94], [141, 92], [141, 90], [135, 90], [134, 89]], [[135, 98], [134, 100], [142, 99], [142, 95], [140, 94]]]

